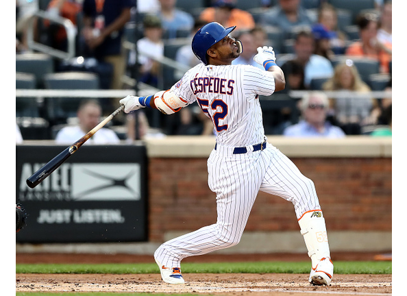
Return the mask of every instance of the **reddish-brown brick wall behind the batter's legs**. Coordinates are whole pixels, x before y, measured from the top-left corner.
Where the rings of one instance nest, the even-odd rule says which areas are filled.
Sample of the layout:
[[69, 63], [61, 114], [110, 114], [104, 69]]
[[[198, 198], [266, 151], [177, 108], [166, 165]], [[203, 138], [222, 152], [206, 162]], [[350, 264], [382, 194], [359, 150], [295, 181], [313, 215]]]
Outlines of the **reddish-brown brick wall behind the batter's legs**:
[[[391, 158], [291, 158], [314, 181], [333, 230], [391, 231]], [[149, 241], [215, 223], [206, 158], [149, 158]], [[259, 193], [247, 231], [298, 230], [293, 205]]]

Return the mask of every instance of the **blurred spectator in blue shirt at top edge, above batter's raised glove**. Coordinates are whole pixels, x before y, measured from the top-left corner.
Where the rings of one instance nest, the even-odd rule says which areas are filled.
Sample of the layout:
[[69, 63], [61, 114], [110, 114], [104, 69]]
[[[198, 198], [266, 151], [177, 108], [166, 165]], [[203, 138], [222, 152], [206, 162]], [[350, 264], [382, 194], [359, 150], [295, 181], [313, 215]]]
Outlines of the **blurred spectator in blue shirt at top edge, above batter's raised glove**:
[[278, 0], [276, 5], [262, 14], [260, 23], [280, 27], [284, 33], [284, 39], [290, 38], [294, 27], [311, 27], [314, 23], [312, 14], [300, 3], [301, 0]]

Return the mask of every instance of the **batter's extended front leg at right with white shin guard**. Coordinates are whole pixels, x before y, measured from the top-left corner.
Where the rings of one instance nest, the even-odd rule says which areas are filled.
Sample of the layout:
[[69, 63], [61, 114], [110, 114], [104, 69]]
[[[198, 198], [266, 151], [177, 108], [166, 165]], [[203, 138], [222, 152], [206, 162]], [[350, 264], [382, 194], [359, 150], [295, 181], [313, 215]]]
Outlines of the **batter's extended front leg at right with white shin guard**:
[[291, 201], [295, 208], [301, 234], [311, 258], [312, 284], [329, 285], [333, 275], [325, 219], [314, 182], [305, 177], [295, 164], [275, 147], [270, 147], [271, 162], [260, 190]]

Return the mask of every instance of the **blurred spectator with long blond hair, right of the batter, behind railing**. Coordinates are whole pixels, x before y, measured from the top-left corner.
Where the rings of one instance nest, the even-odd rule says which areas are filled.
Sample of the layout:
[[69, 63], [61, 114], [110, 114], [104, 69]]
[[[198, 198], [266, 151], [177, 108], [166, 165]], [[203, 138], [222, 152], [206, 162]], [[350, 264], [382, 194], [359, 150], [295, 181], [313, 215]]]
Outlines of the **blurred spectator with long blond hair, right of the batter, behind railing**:
[[352, 96], [350, 92], [369, 93], [356, 66], [348, 60], [335, 67], [334, 76], [323, 84], [323, 90], [342, 91], [343, 96], [330, 99], [332, 116], [346, 134], [361, 134], [362, 125], [373, 124], [378, 102], [371, 97]]

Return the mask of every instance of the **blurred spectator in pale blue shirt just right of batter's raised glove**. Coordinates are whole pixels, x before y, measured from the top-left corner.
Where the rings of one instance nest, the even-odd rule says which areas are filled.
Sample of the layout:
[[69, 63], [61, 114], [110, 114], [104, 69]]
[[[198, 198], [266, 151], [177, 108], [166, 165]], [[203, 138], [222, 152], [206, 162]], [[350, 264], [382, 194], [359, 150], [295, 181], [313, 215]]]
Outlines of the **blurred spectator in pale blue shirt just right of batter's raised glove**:
[[314, 54], [314, 49], [315, 41], [312, 32], [300, 31], [295, 38], [295, 57], [293, 60], [297, 60], [304, 66], [304, 85], [306, 88], [309, 88], [312, 78], [332, 77], [334, 74], [334, 68], [330, 60]]

